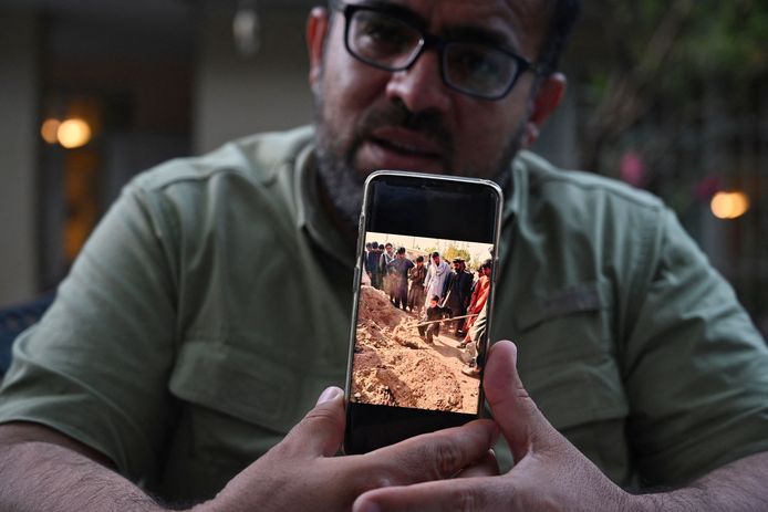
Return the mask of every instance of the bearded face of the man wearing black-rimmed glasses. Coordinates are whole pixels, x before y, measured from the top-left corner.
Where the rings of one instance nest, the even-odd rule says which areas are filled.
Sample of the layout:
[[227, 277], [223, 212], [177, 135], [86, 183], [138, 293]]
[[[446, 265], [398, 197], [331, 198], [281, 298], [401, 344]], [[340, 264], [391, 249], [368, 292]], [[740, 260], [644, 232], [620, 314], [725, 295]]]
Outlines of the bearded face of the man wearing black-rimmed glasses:
[[[365, 0], [351, 2], [364, 4]], [[531, 61], [548, 23], [542, 3], [376, 1], [407, 10], [429, 33], [490, 40]], [[533, 73], [523, 73], [501, 100], [475, 98], [446, 86], [434, 49], [398, 72], [357, 61], [344, 48], [343, 14], [330, 15], [333, 22], [324, 51], [310, 41], [318, 156], [325, 188], [349, 222], [356, 222], [363, 182], [376, 169], [508, 179], [509, 163], [531, 113]]]

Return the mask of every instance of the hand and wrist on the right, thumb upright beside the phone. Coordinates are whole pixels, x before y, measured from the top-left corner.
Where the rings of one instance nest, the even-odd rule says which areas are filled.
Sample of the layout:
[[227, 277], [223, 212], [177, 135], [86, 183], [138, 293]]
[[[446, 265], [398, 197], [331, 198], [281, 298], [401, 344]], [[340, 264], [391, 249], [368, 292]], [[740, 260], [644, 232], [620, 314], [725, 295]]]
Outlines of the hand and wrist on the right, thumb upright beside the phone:
[[726, 464], [688, 487], [632, 495], [612, 483], [547, 421], [520, 383], [517, 349], [489, 352], [485, 390], [517, 463], [500, 477], [390, 487], [366, 492], [355, 512], [504, 511], [765, 511], [768, 452]]

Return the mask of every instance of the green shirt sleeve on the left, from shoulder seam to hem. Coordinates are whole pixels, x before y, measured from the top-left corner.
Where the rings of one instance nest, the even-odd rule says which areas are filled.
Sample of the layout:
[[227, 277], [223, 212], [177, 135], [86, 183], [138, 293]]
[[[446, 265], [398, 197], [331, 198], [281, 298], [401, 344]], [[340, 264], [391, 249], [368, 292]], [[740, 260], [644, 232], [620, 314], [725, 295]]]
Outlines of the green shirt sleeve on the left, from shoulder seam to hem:
[[153, 479], [173, 418], [175, 286], [168, 232], [128, 186], [41, 322], [20, 336], [0, 422], [43, 424]]

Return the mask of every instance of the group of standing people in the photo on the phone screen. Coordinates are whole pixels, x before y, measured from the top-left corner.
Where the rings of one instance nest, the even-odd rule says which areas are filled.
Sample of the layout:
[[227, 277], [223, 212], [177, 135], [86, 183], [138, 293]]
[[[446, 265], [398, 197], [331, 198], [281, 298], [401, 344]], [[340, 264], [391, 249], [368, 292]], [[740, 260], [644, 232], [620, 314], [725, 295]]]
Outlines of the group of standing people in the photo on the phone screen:
[[460, 348], [476, 339], [471, 327], [488, 301], [491, 260], [486, 260], [475, 274], [463, 258], [448, 263], [435, 251], [425, 264], [424, 255], [411, 259], [404, 247], [395, 250], [390, 242], [375, 241], [365, 244], [363, 260], [365, 281], [386, 293], [394, 307], [423, 318], [418, 332], [427, 343], [434, 343], [444, 322], [460, 339]]

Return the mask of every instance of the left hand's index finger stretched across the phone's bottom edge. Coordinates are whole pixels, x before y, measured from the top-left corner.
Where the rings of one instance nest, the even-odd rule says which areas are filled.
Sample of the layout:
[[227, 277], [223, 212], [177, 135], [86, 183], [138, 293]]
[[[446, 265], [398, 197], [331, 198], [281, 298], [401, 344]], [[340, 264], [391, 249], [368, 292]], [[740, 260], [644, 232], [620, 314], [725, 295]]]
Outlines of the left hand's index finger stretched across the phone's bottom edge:
[[463, 469], [484, 460], [499, 435], [490, 420], [475, 420], [407, 439], [365, 454], [370, 462], [384, 461], [390, 485], [456, 476]]

